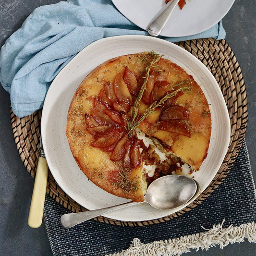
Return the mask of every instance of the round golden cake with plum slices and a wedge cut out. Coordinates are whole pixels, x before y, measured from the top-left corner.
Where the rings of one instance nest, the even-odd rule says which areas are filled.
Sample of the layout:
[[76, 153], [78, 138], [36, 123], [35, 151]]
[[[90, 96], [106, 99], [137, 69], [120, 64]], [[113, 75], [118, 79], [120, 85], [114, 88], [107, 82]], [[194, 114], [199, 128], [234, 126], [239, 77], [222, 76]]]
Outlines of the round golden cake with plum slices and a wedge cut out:
[[88, 74], [73, 96], [66, 127], [73, 156], [90, 181], [113, 195], [144, 201], [143, 165], [158, 166], [155, 177], [147, 176], [152, 182], [171, 174], [175, 161], [160, 161], [136, 128], [195, 171], [207, 156], [211, 118], [200, 86], [154, 53], [117, 57]]

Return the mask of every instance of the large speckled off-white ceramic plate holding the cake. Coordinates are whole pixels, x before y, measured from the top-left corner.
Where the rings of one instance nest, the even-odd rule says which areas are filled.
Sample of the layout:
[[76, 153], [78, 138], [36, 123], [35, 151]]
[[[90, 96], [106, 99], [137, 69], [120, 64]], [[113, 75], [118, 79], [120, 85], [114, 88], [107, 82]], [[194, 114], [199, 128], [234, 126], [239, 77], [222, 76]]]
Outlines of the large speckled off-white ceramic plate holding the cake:
[[[104, 61], [151, 50], [164, 54], [164, 58], [177, 63], [192, 74], [211, 104], [212, 135], [208, 155], [200, 170], [193, 173], [201, 191], [212, 181], [226, 155], [230, 141], [228, 111], [216, 80], [199, 60], [181, 47], [155, 37], [119, 36], [98, 40], [78, 53], [56, 76], [45, 99], [41, 122], [44, 151], [54, 179], [65, 193], [87, 209], [109, 207], [127, 200], [97, 187], [76, 164], [65, 135], [73, 94], [85, 76]], [[144, 221], [168, 216], [183, 207], [163, 211], [144, 203], [105, 216], [122, 221]]]

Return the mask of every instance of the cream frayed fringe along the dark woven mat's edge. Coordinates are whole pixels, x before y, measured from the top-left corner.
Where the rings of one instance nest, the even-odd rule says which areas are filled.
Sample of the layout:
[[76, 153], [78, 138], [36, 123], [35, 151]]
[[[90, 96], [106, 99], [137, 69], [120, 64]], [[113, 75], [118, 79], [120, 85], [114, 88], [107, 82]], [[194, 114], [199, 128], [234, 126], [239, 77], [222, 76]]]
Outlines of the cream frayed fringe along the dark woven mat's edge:
[[206, 232], [176, 239], [143, 244], [138, 238], [134, 238], [127, 250], [106, 256], [180, 256], [190, 252], [190, 249], [208, 250], [216, 245], [223, 249], [228, 244], [244, 242], [244, 238], [247, 238], [250, 243], [256, 243], [256, 224], [254, 222], [238, 227], [231, 225], [225, 229], [222, 228], [224, 221], [225, 219], [210, 230], [205, 229]]

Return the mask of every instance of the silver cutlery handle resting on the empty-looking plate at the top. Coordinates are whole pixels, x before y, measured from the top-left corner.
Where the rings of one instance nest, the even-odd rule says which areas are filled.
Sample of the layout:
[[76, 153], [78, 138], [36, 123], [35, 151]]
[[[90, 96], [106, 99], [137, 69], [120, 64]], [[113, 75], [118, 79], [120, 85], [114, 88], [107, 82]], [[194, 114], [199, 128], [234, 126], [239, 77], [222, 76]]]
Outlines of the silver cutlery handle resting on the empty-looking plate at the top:
[[178, 2], [179, 0], [173, 0], [170, 5], [149, 25], [147, 32], [152, 37], [160, 35]]

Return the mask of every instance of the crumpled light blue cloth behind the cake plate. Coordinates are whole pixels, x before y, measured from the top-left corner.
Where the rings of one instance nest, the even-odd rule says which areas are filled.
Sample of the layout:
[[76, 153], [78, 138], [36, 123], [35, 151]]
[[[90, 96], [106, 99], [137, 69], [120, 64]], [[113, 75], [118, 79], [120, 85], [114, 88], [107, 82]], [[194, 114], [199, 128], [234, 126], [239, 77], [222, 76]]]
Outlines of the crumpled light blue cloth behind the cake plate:
[[[37, 8], [6, 40], [0, 51], [0, 83], [11, 95], [14, 114], [24, 117], [43, 107], [49, 86], [61, 69], [90, 43], [119, 35], [149, 35], [111, 0], [67, 0]], [[221, 22], [190, 37], [170, 42], [225, 38]]]

